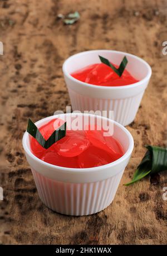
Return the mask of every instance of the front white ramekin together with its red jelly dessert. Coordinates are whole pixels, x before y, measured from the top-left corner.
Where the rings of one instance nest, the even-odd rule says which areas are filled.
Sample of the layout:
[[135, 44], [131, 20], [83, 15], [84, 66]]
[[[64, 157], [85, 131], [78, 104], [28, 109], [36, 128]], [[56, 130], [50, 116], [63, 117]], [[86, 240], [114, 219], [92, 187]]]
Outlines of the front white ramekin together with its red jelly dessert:
[[[72, 122], [76, 116], [83, 121], [85, 131], [68, 129], [67, 119]], [[56, 129], [53, 124], [57, 119], [59, 125], [61, 120], [67, 122], [66, 136], [47, 150], [27, 131], [23, 136], [23, 148], [38, 194], [47, 207], [61, 214], [99, 212], [114, 199], [134, 146], [132, 136], [124, 126], [109, 118], [69, 113], [36, 122], [46, 139]], [[106, 122], [107, 127], [113, 126], [113, 134], [110, 130], [105, 129], [104, 133], [102, 129], [96, 129], [99, 121]], [[95, 130], [90, 129], [92, 122]]]

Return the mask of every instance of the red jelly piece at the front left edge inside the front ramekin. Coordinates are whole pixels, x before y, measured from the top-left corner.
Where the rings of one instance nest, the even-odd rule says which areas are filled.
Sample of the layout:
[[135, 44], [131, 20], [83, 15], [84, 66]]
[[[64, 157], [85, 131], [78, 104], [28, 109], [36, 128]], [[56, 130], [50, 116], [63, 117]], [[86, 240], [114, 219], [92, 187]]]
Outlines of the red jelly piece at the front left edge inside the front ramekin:
[[76, 157], [71, 157], [71, 158], [62, 157], [61, 155], [58, 155], [56, 151], [46, 150], [41, 160], [49, 164], [58, 165], [61, 167], [80, 168]]

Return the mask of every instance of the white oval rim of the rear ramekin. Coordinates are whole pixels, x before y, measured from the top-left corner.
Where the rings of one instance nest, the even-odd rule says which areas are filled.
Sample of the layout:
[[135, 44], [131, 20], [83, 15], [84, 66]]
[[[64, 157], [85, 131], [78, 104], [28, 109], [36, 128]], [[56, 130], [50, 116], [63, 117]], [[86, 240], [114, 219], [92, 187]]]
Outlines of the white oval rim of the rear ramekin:
[[[135, 58], [135, 59], [141, 61], [143, 64], [145, 64], [145, 65], [146, 65], [146, 68], [148, 69], [148, 73], [147, 73], [147, 75], [146, 75], [143, 79], [139, 80], [139, 82], [136, 82], [136, 83], [133, 83], [133, 84], [129, 84], [129, 85], [127, 85], [127, 86], [97, 86], [96, 84], [89, 84], [89, 83], [82, 82], [82, 81], [80, 81], [80, 80], [78, 80], [78, 79], [72, 77], [72, 75], [67, 72], [67, 70], [66, 70], [66, 64], [67, 64], [68, 61], [70, 61], [70, 60], [73, 58], [73, 56], [76, 56], [76, 55], [84, 55], [84, 54], [89, 54], [89, 53], [98, 52], [98, 51], [106, 51], [106, 52], [108, 51], [108, 52], [110, 52], [110, 53], [121, 53], [121, 54], [124, 54], [124, 55], [126, 55], [126, 56], [131, 56], [132, 58]], [[77, 83], [82, 84], [82, 85], [87, 86], [87, 87], [91, 87], [91, 88], [96, 88], [96, 87], [97, 87], [97, 88], [103, 89], [103, 90], [105, 90], [105, 89], [111, 89], [111, 90], [112, 90], [112, 89], [117, 89], [117, 90], [119, 90], [119, 89], [123, 89], [123, 88], [127, 88], [127, 89], [128, 89], [128, 88], [134, 88], [134, 87], [140, 86], [140, 84], [143, 84], [143, 83], [145, 83], [147, 80], [150, 79], [151, 73], [152, 73], [152, 70], [151, 70], [150, 65], [149, 65], [145, 60], [141, 59], [140, 57], [138, 57], [138, 56], [136, 56], [136, 55], [134, 55], [134, 54], [126, 53], [125, 51], [102, 50], [102, 49], [101, 49], [101, 50], [81, 51], [80, 53], [73, 54], [72, 56], [68, 57], [68, 58], [65, 60], [65, 62], [63, 63], [63, 66], [62, 66], [62, 70], [63, 70], [63, 73], [64, 73], [69, 79], [73, 80], [74, 82], [77, 82]]]

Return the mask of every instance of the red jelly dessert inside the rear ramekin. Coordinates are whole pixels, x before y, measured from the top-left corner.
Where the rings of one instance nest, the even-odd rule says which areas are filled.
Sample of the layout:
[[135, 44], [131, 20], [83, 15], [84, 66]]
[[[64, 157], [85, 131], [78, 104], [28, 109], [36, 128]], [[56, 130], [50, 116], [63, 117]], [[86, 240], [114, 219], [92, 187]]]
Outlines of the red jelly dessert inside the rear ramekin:
[[[118, 65], [112, 64], [116, 68]], [[94, 84], [96, 86], [127, 86], [139, 82], [125, 69], [121, 77], [104, 63], [88, 65], [71, 74], [73, 78], [81, 82]]]

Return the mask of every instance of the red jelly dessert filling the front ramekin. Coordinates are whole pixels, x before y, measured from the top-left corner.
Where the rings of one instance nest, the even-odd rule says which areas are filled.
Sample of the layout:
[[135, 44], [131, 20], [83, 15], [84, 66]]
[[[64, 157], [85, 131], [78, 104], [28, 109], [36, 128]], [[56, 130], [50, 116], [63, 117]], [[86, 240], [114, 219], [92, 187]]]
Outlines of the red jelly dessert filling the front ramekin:
[[[55, 118], [40, 127], [40, 132], [47, 140], [53, 131], [63, 124]], [[43, 148], [35, 138], [30, 140], [31, 151], [44, 162], [68, 168], [91, 168], [109, 164], [124, 155], [121, 144], [112, 136], [104, 136], [103, 130], [85, 131], [67, 130], [66, 136], [50, 148]]]

